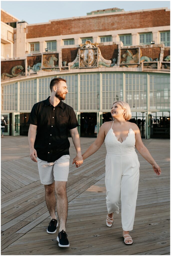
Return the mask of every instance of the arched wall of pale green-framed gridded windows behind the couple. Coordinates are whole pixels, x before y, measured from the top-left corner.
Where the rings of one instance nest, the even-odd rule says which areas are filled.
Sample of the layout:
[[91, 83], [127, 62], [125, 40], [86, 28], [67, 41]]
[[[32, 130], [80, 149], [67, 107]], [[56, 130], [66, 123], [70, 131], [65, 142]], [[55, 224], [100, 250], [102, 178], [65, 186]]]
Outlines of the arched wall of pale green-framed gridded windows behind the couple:
[[[24, 135], [32, 106], [50, 96], [49, 85], [54, 77], [58, 75], [2, 84], [2, 114], [20, 113]], [[104, 120], [109, 121], [107, 115], [116, 100], [128, 102], [137, 124], [138, 119], [150, 122], [152, 118], [149, 116], [156, 117], [156, 113], [157, 116], [160, 113], [161, 120], [166, 117], [166, 123], [170, 121], [170, 75], [167, 73], [96, 72], [59, 77], [67, 80], [68, 94], [64, 102], [73, 107], [79, 123], [81, 113], [92, 113], [93, 120], [96, 115], [96, 123], [99, 122], [97, 132]], [[86, 115], [83, 117], [86, 118]], [[87, 117], [91, 119], [90, 114]], [[154, 122], [153, 118], [151, 123]]]

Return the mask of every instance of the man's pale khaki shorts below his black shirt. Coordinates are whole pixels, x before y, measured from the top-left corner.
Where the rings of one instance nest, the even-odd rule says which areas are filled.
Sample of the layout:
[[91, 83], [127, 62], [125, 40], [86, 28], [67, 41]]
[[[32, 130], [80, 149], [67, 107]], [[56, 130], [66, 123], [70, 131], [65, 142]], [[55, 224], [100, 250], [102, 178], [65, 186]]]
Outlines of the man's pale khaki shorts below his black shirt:
[[54, 181], [67, 181], [69, 174], [70, 156], [63, 155], [55, 162], [48, 163], [37, 157], [40, 181], [44, 185]]

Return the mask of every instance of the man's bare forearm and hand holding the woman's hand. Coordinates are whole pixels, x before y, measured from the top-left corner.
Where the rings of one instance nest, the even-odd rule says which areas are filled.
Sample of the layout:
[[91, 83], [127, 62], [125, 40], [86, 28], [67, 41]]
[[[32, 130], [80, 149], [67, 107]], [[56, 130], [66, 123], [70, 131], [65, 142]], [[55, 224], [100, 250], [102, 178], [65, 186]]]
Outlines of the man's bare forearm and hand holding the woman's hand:
[[[78, 134], [77, 128], [75, 127], [74, 129], [71, 129], [70, 134], [77, 152], [77, 155], [76, 155], [76, 158], [78, 160], [77, 167], [79, 167], [83, 163], [83, 157], [81, 155], [81, 146], [80, 146], [80, 140], [79, 140], [79, 134]], [[73, 161], [73, 164], [74, 164], [74, 161]]]

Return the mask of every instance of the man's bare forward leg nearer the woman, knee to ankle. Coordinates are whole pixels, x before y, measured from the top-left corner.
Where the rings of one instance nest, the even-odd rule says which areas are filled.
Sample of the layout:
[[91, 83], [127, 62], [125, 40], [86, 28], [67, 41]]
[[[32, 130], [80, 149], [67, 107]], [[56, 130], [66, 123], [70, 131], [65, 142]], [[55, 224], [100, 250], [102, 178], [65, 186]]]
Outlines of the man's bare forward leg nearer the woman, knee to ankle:
[[66, 195], [66, 182], [55, 181], [55, 190], [57, 195], [57, 213], [60, 221], [60, 229], [65, 231], [66, 219], [68, 214], [68, 199]]

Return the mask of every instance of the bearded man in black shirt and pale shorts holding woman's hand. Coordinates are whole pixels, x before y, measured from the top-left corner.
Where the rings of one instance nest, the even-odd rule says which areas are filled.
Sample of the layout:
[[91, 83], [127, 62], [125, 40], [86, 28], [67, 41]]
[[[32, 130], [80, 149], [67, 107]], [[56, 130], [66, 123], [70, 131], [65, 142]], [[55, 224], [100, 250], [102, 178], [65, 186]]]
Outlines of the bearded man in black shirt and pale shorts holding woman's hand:
[[66, 182], [70, 160], [68, 129], [77, 153], [77, 166], [81, 166], [83, 158], [76, 115], [71, 106], [61, 101], [65, 100], [68, 92], [66, 80], [62, 78], [52, 79], [50, 90], [51, 96], [36, 103], [31, 110], [28, 120], [30, 124], [28, 141], [30, 157], [32, 161], [38, 163], [40, 180], [45, 187], [45, 200], [51, 216], [47, 232], [55, 233], [58, 226], [55, 215], [56, 199], [54, 191], [56, 191], [57, 213], [60, 221], [57, 241], [60, 247], [69, 247], [65, 232], [68, 211]]

